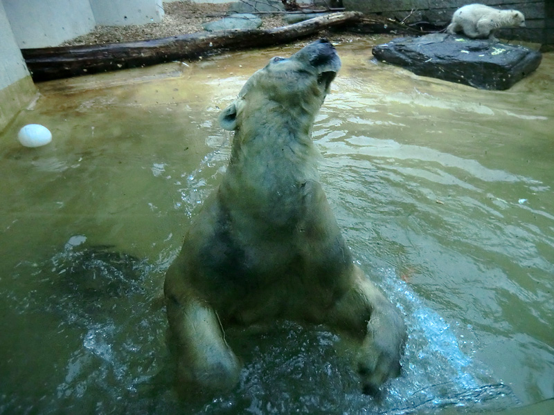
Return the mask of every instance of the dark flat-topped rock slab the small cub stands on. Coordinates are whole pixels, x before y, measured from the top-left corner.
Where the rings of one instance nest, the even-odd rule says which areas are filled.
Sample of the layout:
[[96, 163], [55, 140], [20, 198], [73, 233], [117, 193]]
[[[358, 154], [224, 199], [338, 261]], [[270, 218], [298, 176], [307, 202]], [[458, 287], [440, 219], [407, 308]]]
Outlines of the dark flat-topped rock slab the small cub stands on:
[[373, 55], [417, 75], [479, 89], [508, 89], [535, 71], [542, 59], [541, 53], [524, 46], [445, 33], [393, 39], [375, 46]]

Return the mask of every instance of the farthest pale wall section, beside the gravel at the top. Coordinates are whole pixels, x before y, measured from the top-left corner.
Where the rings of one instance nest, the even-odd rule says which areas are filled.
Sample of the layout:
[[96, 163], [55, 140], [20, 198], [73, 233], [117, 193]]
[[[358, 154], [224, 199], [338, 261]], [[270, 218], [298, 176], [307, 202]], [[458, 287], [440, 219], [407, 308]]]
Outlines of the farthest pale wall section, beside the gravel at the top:
[[162, 0], [90, 0], [96, 24], [126, 26], [158, 23], [163, 17]]

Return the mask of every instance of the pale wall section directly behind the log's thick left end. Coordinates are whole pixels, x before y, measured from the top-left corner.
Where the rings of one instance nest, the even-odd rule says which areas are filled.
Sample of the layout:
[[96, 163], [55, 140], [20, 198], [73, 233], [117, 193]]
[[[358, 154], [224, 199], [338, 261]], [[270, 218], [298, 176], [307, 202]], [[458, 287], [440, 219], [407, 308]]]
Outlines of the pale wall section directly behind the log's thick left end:
[[1, 0], [19, 48], [44, 48], [89, 33], [89, 0]]

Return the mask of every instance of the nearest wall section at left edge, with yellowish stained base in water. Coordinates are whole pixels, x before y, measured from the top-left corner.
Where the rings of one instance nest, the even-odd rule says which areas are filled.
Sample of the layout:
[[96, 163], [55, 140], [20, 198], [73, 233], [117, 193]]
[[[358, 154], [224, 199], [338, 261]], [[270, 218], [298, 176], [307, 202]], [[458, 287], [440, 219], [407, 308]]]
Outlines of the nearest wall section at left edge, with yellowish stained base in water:
[[33, 99], [37, 90], [0, 2], [0, 131]]

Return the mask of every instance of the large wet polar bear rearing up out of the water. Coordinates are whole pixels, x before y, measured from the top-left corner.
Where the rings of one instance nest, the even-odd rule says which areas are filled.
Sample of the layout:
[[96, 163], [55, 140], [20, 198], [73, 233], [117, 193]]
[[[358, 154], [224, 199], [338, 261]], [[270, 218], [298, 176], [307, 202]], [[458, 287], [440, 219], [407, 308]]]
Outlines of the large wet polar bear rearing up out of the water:
[[312, 125], [340, 66], [325, 39], [274, 57], [220, 115], [235, 131], [229, 166], [164, 284], [185, 396], [238, 383], [226, 328], [278, 319], [351, 338], [364, 392], [400, 374], [402, 315], [354, 264], [319, 183]]

